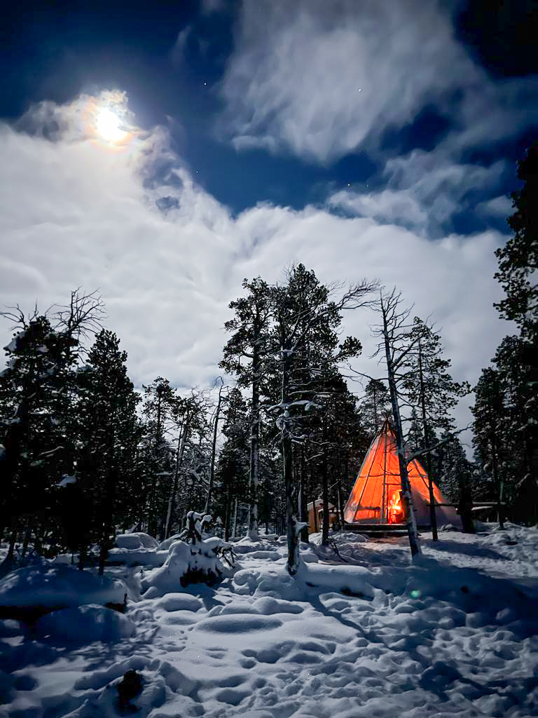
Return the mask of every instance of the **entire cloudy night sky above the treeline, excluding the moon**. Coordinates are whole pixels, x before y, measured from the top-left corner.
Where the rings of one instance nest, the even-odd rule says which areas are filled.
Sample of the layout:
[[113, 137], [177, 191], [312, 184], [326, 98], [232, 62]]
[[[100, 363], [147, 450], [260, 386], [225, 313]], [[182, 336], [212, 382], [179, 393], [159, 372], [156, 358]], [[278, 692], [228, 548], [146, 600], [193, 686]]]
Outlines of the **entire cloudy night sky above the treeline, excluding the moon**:
[[[217, 372], [243, 276], [304, 261], [399, 286], [475, 382], [510, 330], [493, 253], [538, 127], [531, 6], [18, 5], [1, 31], [0, 301], [99, 286], [134, 381], [189, 386]], [[110, 91], [129, 146], [81, 129]], [[368, 345], [372, 319], [346, 321]]]

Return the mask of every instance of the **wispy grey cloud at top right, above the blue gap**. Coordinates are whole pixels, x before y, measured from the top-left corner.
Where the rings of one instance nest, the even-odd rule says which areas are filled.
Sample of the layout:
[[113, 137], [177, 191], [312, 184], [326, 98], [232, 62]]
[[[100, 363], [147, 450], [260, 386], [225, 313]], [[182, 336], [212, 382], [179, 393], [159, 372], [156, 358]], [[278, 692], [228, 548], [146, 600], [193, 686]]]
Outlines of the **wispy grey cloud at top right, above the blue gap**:
[[458, 123], [453, 149], [534, 120], [536, 83], [494, 83], [453, 35], [447, 5], [420, 0], [245, 0], [222, 80], [220, 130], [330, 162], [433, 105]]

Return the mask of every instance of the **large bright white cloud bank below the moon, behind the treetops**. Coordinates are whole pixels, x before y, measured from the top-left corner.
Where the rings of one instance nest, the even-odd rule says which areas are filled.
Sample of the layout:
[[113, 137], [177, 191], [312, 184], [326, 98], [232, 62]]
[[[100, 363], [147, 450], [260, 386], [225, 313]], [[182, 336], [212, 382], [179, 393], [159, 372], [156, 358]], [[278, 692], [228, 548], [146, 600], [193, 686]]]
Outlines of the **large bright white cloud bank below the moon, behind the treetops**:
[[[69, 108], [62, 113], [69, 118]], [[39, 299], [44, 308], [76, 286], [99, 288], [138, 385], [159, 375], [177, 386], [211, 383], [242, 279], [281, 279], [291, 261], [322, 281], [367, 276], [399, 287], [417, 314], [434, 313], [460, 380], [475, 382], [509, 331], [492, 307], [499, 233], [430, 241], [312, 206], [258, 205], [234, 218], [196, 185], [164, 131], [113, 149], [70, 130], [50, 141], [1, 125], [0, 153], [0, 304]], [[166, 167], [160, 182], [156, 167], [159, 177]], [[349, 314], [344, 333], [364, 342], [358, 365], [377, 373], [367, 359], [373, 321]], [[0, 330], [7, 342], [8, 325]]]

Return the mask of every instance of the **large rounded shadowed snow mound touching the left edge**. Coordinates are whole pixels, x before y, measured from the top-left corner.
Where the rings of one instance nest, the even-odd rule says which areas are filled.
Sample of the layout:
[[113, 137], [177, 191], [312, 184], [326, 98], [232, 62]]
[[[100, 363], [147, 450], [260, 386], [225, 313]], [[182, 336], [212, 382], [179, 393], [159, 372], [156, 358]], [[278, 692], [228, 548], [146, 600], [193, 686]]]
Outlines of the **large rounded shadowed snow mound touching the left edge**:
[[123, 603], [126, 593], [126, 585], [118, 579], [62, 565], [34, 565], [17, 569], [0, 581], [0, 606]]

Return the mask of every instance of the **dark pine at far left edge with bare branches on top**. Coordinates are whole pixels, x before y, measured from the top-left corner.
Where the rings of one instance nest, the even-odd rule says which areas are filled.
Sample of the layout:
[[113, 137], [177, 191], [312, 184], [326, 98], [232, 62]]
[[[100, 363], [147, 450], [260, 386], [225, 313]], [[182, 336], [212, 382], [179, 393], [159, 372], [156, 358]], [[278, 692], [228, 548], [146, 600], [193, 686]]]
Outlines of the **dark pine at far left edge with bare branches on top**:
[[73, 462], [69, 424], [80, 341], [103, 314], [100, 297], [79, 290], [47, 314], [37, 307], [29, 315], [19, 307], [1, 314], [16, 329], [0, 373], [0, 529], [9, 527], [8, 561], [23, 524], [25, 543], [32, 531], [37, 538], [40, 528], [52, 528], [52, 488]]

